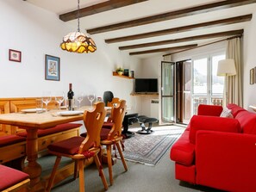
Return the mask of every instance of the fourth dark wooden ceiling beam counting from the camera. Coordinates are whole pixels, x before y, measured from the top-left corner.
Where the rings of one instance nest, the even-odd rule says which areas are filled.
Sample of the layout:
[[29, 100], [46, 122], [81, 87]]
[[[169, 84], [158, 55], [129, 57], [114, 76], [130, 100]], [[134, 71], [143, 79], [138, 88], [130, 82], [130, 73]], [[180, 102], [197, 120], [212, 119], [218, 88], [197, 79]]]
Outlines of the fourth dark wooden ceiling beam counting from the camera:
[[226, 32], [220, 32], [220, 33], [214, 33], [214, 34], [201, 34], [201, 35], [184, 37], [184, 38], [175, 39], [175, 40], [161, 40], [161, 41], [142, 43], [142, 44], [136, 44], [131, 46], [119, 46], [119, 49], [128, 50], [128, 49], [143, 48], [148, 46], [162, 46], [166, 44], [181, 43], [181, 42], [192, 41], [192, 40], [207, 40], [207, 39], [212, 39], [217, 37], [225, 37], [225, 36], [227, 37], [227, 36], [239, 35], [243, 33], [244, 33], [244, 30], [240, 29], [240, 30], [226, 31]]

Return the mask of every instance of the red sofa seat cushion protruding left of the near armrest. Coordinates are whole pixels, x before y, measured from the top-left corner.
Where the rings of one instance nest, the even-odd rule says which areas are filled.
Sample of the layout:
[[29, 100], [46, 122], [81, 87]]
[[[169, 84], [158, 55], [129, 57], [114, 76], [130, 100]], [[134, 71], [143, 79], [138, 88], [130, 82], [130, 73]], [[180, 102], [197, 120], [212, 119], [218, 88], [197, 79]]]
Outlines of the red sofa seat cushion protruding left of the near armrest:
[[170, 158], [178, 164], [190, 166], [195, 160], [195, 145], [190, 143], [190, 131], [184, 131], [172, 146]]

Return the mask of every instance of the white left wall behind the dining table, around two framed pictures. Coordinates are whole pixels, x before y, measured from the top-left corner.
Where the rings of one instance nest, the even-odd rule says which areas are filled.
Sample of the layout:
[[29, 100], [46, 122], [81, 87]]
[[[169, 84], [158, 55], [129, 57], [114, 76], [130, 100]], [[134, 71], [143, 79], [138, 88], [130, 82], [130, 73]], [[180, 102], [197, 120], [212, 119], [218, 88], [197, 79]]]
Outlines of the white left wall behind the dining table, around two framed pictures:
[[[68, 53], [59, 48], [62, 37], [77, 27], [69, 26], [45, 9], [25, 1], [0, 0], [0, 97], [41, 96], [43, 90], [76, 93], [111, 90], [134, 109], [133, 80], [113, 77], [117, 66], [139, 71], [140, 59], [121, 53], [99, 37], [95, 53]], [[83, 26], [81, 26], [83, 29]], [[98, 35], [100, 36], [100, 35]], [[22, 62], [9, 61], [9, 49], [22, 52]], [[60, 58], [60, 81], [45, 80], [45, 54]], [[134, 109], [135, 110], [135, 109]]]

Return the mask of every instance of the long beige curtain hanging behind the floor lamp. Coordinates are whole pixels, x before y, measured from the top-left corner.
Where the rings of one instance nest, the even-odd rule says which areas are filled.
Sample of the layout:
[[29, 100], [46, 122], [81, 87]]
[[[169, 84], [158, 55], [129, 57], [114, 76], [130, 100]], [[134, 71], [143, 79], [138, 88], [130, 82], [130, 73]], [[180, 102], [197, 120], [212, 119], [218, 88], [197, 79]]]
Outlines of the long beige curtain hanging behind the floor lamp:
[[242, 53], [241, 53], [241, 38], [237, 37], [228, 40], [226, 59], [234, 59], [236, 75], [227, 77], [228, 103], [234, 103], [243, 106], [242, 95]]

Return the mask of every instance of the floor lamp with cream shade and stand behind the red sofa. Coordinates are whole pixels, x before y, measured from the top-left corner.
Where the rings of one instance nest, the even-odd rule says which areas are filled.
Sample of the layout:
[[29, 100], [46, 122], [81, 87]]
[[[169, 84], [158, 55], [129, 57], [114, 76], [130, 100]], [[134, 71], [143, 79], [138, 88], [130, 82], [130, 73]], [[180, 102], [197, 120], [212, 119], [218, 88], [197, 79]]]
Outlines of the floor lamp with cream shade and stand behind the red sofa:
[[227, 105], [228, 102], [228, 76], [236, 75], [234, 59], [223, 59], [218, 62], [218, 69], [217, 69], [217, 76], [224, 76], [225, 77], [225, 84], [224, 84], [224, 99], [223, 99], [223, 106]]

